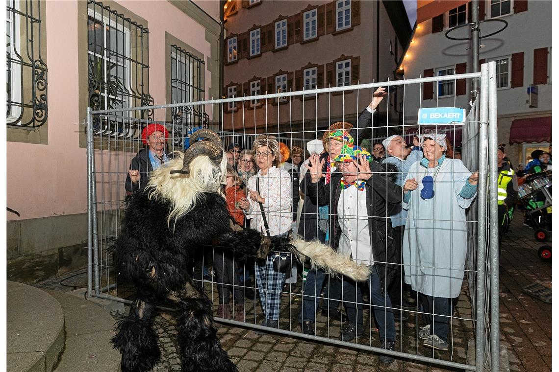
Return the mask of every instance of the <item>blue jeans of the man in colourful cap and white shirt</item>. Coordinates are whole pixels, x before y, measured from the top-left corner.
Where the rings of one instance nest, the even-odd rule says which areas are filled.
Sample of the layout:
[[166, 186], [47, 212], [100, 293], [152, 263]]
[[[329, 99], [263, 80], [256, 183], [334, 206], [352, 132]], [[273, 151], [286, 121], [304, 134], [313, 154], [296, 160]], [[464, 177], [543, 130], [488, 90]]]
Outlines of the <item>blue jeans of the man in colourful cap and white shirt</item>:
[[[385, 340], [396, 341], [396, 327], [394, 325], [392, 303], [386, 291], [381, 291], [380, 278], [378, 278], [374, 266], [371, 266], [371, 275], [367, 278], [367, 284], [369, 286], [369, 301], [373, 306], [373, 313], [375, 314], [375, 320], [378, 324], [378, 334], [381, 342]], [[361, 298], [361, 291], [356, 286], [356, 282], [344, 277], [342, 292], [342, 301], [345, 303], [349, 321], [354, 324], [357, 321], [357, 328], [362, 329], [363, 299]]]

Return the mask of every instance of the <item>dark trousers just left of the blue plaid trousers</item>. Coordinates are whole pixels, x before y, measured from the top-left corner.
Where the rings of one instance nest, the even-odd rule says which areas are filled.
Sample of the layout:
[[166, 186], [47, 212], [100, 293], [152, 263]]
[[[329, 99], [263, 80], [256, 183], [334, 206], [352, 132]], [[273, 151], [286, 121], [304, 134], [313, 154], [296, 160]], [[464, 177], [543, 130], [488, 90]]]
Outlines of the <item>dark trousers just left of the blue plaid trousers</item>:
[[[220, 249], [216, 249], [214, 252], [214, 272], [219, 303], [229, 303], [229, 297], [233, 292], [233, 303], [242, 305], [244, 300], [243, 282], [239, 278], [237, 261], [233, 262], [233, 257], [224, 254]], [[234, 284], [234, 286], [231, 286], [231, 284]]]

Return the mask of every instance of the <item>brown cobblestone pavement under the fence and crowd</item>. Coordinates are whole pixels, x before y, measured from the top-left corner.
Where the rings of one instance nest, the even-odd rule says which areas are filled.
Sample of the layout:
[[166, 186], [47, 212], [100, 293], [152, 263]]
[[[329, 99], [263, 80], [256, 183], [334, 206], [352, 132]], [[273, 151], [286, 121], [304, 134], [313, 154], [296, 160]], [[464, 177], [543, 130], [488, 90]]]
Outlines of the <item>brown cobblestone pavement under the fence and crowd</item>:
[[[517, 214], [513, 228], [503, 241], [500, 269], [500, 321], [501, 344], [508, 347], [510, 369], [513, 371], [551, 370], [551, 304], [543, 303], [522, 291], [522, 287], [539, 281], [551, 281], [551, 263], [542, 262], [537, 257], [537, 249], [542, 245], [533, 238], [533, 230], [522, 225], [522, 215]], [[69, 291], [85, 286], [87, 274], [82, 271], [52, 278], [37, 284], [39, 287]], [[213, 288], [212, 288], [213, 287]], [[215, 285], [205, 283], [206, 292], [214, 299], [217, 308]], [[473, 339], [474, 323], [471, 321], [471, 304], [466, 281], [458, 298], [452, 322], [452, 343], [448, 352], [423, 347], [416, 342], [416, 330], [424, 324], [416, 314], [409, 313], [407, 321], [396, 323], [398, 337], [396, 350], [466, 363], [468, 340]], [[120, 293], [122, 294], [122, 292]], [[291, 288], [291, 294], [282, 296], [280, 327], [300, 332], [297, 316], [301, 303], [300, 286]], [[256, 306], [255, 306], [256, 305]], [[259, 323], [262, 311], [254, 297], [245, 302], [247, 321]], [[369, 329], [370, 313], [364, 310], [364, 327]], [[396, 359], [384, 365], [378, 355], [368, 351], [317, 343], [297, 337], [278, 334], [257, 335], [250, 328], [234, 327], [226, 323], [216, 323], [220, 341], [231, 359], [242, 372], [249, 371], [454, 371], [427, 363], [415, 363], [410, 359]], [[159, 335], [162, 361], [155, 372], [180, 371], [176, 327], [162, 316], [155, 318]], [[338, 339], [340, 322], [317, 316], [318, 336]], [[373, 323], [373, 331], [365, 332], [357, 340], [361, 345], [379, 346], [378, 333]], [[420, 340], [422, 341], [422, 340]]]

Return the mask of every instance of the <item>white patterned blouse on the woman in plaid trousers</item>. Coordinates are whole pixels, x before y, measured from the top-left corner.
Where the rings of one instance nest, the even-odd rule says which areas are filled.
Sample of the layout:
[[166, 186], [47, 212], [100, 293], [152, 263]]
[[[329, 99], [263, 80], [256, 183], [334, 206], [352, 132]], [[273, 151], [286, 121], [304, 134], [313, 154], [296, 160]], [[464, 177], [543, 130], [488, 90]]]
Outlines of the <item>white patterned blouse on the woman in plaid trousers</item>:
[[[276, 166], [269, 168], [266, 175], [262, 175], [262, 171], [259, 170], [257, 175], [249, 178], [247, 194], [250, 191], [256, 191], [257, 179], [260, 182], [260, 196], [264, 198], [262, 206], [264, 207], [270, 236], [290, 231], [293, 218], [291, 213], [293, 190], [290, 174]], [[250, 219], [250, 228], [266, 234], [259, 203], [250, 199], [250, 195], [247, 196], [247, 201], [250, 206], [245, 214], [247, 219]]]

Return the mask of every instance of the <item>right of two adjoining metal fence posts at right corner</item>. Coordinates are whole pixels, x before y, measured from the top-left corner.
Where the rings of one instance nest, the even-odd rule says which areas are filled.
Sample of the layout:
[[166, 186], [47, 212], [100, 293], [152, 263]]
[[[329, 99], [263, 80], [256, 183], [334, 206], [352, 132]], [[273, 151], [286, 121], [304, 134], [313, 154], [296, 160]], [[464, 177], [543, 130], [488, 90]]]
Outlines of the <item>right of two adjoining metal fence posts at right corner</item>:
[[489, 62], [489, 252], [491, 267], [491, 370], [499, 371], [499, 225], [497, 206], [497, 82]]

